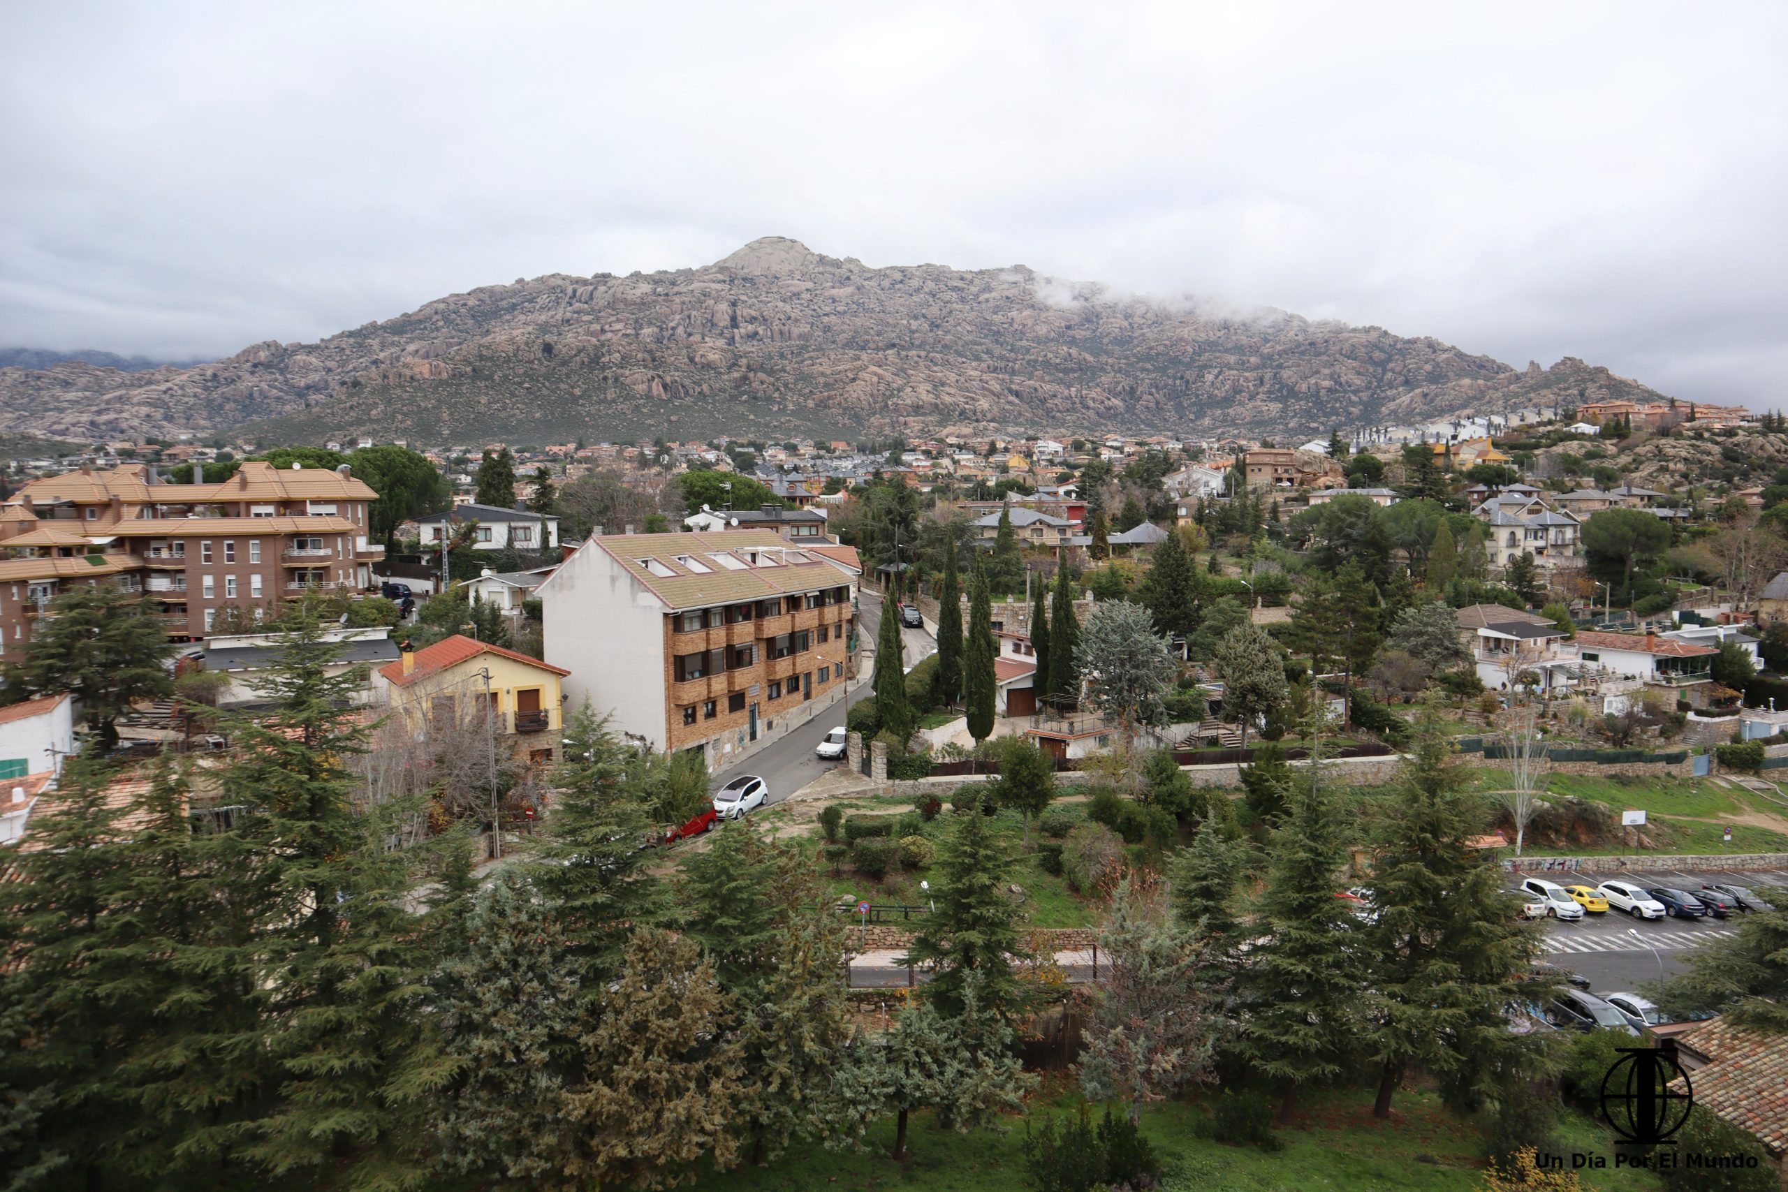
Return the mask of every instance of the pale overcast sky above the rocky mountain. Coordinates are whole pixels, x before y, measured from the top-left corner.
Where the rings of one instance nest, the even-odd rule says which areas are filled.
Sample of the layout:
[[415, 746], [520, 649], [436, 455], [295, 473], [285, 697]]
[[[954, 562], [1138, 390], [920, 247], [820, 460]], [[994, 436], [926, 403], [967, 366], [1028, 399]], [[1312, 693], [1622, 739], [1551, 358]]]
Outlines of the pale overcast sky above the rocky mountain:
[[1788, 375], [1788, 5], [0, 0], [0, 347], [222, 356], [792, 236]]

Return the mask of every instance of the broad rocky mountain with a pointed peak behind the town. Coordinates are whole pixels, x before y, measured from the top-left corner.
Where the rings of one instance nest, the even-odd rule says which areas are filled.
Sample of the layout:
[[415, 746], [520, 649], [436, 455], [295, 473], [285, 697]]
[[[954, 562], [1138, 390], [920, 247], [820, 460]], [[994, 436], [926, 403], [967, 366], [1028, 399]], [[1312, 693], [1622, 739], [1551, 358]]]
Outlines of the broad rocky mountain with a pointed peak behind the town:
[[783, 238], [694, 270], [517, 279], [195, 368], [0, 370], [0, 411], [39, 434], [249, 424], [281, 441], [1314, 434], [1616, 395], [1656, 397], [1575, 359], [1516, 372], [1382, 327], [1121, 297], [1025, 266], [869, 268]]

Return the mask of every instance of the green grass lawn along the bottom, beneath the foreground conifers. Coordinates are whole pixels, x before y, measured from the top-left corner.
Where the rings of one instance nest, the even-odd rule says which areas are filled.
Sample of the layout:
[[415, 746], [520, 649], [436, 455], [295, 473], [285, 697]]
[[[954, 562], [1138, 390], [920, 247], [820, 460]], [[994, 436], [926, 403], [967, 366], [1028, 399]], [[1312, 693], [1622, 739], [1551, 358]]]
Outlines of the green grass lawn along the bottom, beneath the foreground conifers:
[[[1055, 1092], [1033, 1097], [1032, 1113], [1067, 1115], [1078, 1104], [1078, 1095], [1057, 1083]], [[1371, 1119], [1371, 1092], [1361, 1088], [1312, 1094], [1305, 1110], [1305, 1121], [1280, 1131], [1286, 1147], [1277, 1153], [1198, 1137], [1205, 1112], [1182, 1101], [1148, 1106], [1143, 1112], [1143, 1131], [1168, 1169], [1162, 1181], [1168, 1192], [1470, 1192], [1482, 1176], [1477, 1129], [1446, 1113], [1432, 1094], [1400, 1094], [1389, 1122]], [[1606, 1153], [1600, 1131], [1588, 1119], [1570, 1119], [1563, 1133], [1570, 1149]], [[889, 1158], [892, 1140], [894, 1121], [887, 1119], [869, 1131], [867, 1144], [874, 1147], [871, 1154], [799, 1149], [771, 1167], [703, 1172], [697, 1185], [728, 1192], [1007, 1192], [1030, 1187], [1025, 1174], [1025, 1126], [1017, 1121], [1005, 1124], [1005, 1129], [958, 1135], [939, 1129], [928, 1113], [914, 1115], [905, 1165]], [[1622, 1169], [1582, 1176], [1584, 1187], [1604, 1192], [1661, 1188], [1649, 1172]]]

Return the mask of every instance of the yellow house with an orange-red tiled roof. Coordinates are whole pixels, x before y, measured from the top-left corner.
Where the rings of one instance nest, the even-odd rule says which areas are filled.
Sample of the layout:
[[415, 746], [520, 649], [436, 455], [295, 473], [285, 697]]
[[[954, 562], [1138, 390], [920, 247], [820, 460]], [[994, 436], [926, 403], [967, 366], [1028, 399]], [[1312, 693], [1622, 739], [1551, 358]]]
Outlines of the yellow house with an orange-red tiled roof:
[[552, 761], [565, 727], [560, 679], [569, 674], [456, 633], [422, 651], [404, 649], [374, 672], [374, 690], [417, 735], [486, 731], [488, 711], [488, 727], [511, 738], [517, 752]]

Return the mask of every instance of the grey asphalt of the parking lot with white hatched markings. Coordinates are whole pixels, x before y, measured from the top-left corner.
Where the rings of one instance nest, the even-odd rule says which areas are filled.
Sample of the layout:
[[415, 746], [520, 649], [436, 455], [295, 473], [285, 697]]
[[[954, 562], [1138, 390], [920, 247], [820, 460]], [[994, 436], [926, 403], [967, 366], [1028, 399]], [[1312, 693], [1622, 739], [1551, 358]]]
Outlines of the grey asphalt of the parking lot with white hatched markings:
[[[1693, 894], [1702, 881], [1722, 881], [1738, 886], [1788, 885], [1788, 872], [1690, 872], [1670, 870], [1620, 874], [1538, 874], [1561, 886], [1600, 885], [1604, 879], [1625, 879], [1645, 886], [1674, 886]], [[1520, 885], [1511, 879], [1509, 886]], [[1722, 936], [1731, 936], [1743, 915], [1733, 919], [1650, 919], [1638, 920], [1622, 911], [1584, 915], [1577, 922], [1547, 920], [1545, 960], [1588, 978], [1590, 992], [1636, 992], [1643, 981], [1656, 981], [1670, 972], [1688, 969], [1688, 954]]]

